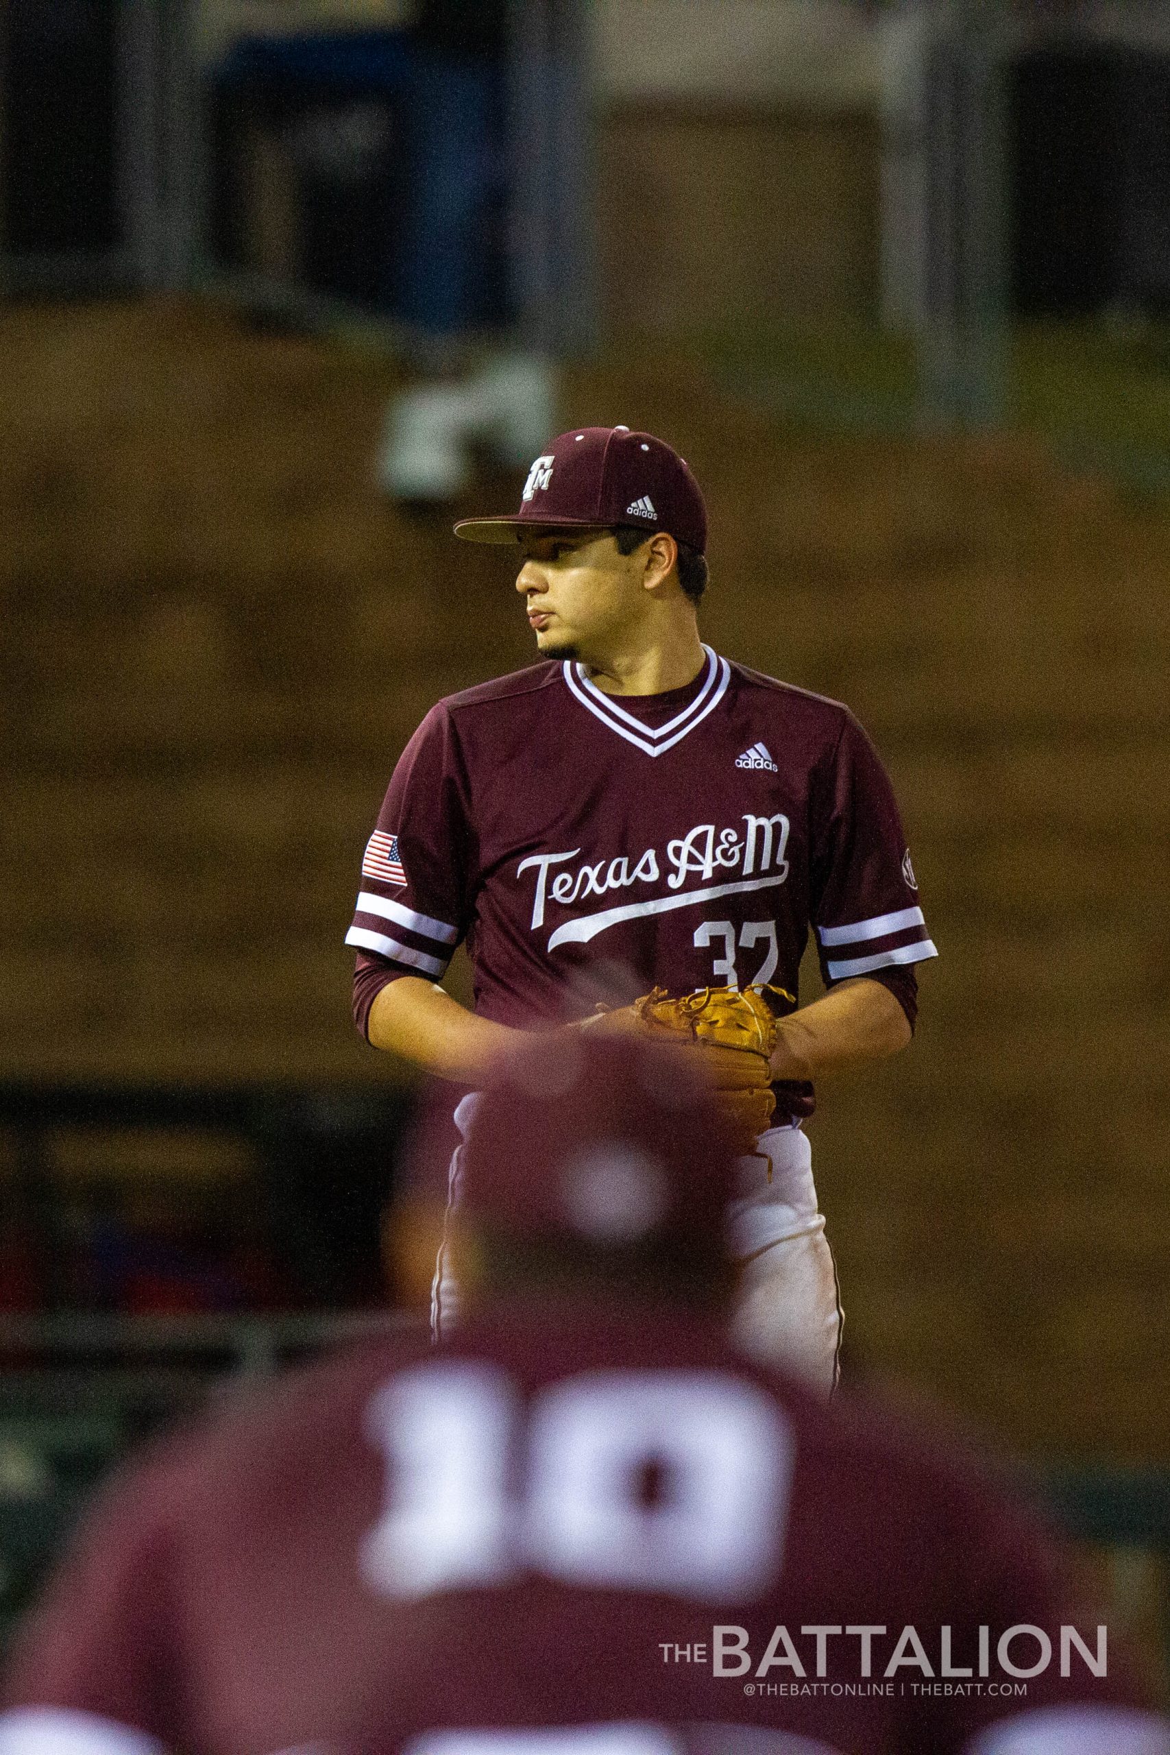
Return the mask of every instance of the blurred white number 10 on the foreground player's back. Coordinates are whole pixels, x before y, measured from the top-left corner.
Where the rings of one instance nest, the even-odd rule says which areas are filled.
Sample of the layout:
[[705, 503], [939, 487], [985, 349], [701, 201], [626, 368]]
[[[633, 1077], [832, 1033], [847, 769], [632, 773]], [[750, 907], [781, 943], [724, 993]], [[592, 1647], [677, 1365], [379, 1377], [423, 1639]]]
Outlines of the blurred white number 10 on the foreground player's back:
[[524, 1400], [498, 1367], [419, 1365], [370, 1400], [367, 1436], [388, 1488], [361, 1571], [384, 1595], [530, 1571], [730, 1602], [781, 1567], [791, 1432], [731, 1374], [589, 1371]]

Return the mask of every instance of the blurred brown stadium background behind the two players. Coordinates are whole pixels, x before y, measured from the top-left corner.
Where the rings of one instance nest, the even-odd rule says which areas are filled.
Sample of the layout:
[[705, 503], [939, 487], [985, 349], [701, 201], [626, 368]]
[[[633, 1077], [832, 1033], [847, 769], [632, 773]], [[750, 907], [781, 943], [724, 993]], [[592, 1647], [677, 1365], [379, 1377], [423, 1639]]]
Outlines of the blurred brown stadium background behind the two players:
[[516, 433], [430, 507], [386, 433], [526, 362], [549, 432], [682, 449], [707, 637], [847, 700], [903, 804], [917, 1042], [812, 1123], [849, 1367], [1014, 1458], [1165, 1664], [1165, 5], [5, 0], [0, 40], [0, 1622], [147, 1430], [395, 1320], [414, 1095], [340, 941], [405, 737], [531, 653], [449, 541]]

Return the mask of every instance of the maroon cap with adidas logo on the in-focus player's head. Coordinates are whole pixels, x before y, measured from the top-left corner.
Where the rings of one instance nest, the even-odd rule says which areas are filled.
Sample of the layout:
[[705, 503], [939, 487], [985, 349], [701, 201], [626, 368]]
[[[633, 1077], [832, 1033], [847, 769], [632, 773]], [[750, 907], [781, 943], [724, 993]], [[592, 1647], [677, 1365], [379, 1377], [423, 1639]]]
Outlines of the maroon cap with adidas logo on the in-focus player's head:
[[707, 551], [707, 507], [677, 451], [628, 426], [577, 426], [528, 470], [514, 518], [463, 518], [465, 542], [519, 542], [524, 530], [612, 530], [631, 525]]

